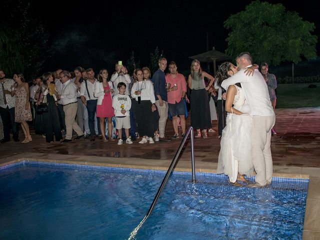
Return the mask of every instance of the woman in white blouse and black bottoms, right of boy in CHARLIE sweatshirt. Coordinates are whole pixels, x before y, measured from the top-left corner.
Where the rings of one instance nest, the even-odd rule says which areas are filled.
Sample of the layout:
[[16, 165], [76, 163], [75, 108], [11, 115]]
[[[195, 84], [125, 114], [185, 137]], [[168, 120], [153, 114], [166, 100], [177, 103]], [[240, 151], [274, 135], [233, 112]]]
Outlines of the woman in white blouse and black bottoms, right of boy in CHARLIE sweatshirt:
[[135, 99], [134, 104], [135, 118], [138, 125], [138, 132], [143, 136], [139, 143], [154, 143], [152, 136], [157, 129], [158, 111], [154, 104], [153, 84], [150, 80], [143, 80], [141, 69], [135, 70], [136, 81], [131, 88], [131, 96]]

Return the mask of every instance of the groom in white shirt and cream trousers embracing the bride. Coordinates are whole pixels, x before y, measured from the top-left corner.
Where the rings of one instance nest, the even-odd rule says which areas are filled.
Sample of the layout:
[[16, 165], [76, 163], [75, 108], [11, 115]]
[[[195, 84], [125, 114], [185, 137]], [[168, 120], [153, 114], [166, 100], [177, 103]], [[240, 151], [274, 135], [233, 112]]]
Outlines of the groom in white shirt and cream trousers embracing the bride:
[[229, 85], [240, 82], [245, 98], [251, 108], [252, 116], [252, 148], [255, 184], [250, 187], [260, 187], [271, 183], [271, 129], [275, 122], [274, 111], [270, 102], [269, 92], [261, 73], [255, 69], [253, 76], [244, 73], [246, 67], [252, 65], [252, 57], [248, 52], [242, 52], [236, 57], [236, 64], [240, 70], [222, 81], [221, 86], [226, 89]]

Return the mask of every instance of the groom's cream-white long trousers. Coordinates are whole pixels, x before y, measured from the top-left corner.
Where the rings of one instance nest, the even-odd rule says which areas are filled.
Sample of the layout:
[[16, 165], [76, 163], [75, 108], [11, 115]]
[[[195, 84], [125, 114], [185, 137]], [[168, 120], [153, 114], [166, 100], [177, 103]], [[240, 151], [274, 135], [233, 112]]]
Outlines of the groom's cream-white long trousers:
[[275, 116], [252, 116], [252, 159], [255, 182], [264, 186], [272, 178], [271, 129]]

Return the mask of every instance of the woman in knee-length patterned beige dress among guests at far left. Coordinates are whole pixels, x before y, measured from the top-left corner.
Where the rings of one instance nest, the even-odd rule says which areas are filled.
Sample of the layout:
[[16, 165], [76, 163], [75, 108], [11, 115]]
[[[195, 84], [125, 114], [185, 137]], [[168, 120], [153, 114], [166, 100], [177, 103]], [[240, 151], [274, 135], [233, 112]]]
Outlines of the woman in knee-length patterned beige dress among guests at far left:
[[14, 74], [13, 80], [15, 84], [11, 86], [11, 96], [15, 95], [14, 121], [21, 122], [25, 136], [22, 143], [26, 143], [32, 141], [29, 125], [26, 122], [32, 120], [29, 103], [29, 85], [27, 82], [24, 82], [22, 73]]

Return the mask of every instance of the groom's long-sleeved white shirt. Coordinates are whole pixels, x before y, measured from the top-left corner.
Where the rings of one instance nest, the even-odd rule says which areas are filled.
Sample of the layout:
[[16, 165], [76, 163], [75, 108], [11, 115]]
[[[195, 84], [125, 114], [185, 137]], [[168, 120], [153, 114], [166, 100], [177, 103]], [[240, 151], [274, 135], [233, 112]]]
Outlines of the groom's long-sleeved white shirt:
[[[252, 65], [248, 65], [250, 67]], [[251, 108], [250, 115], [272, 116], [274, 111], [271, 105], [268, 87], [261, 73], [255, 69], [253, 76], [244, 73], [245, 68], [225, 79], [221, 87], [227, 89], [229, 85], [241, 83], [245, 98]]]

